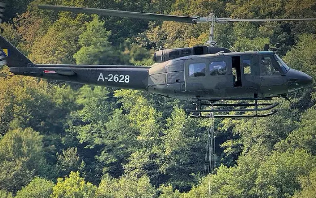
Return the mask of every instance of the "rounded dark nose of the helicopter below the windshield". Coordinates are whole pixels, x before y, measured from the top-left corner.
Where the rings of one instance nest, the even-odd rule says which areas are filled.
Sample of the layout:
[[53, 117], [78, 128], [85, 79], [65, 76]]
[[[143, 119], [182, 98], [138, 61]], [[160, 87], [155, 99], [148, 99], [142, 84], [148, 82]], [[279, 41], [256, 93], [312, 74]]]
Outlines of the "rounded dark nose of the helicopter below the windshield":
[[296, 69], [290, 69], [286, 76], [289, 83], [289, 91], [295, 91], [313, 83], [312, 77]]

